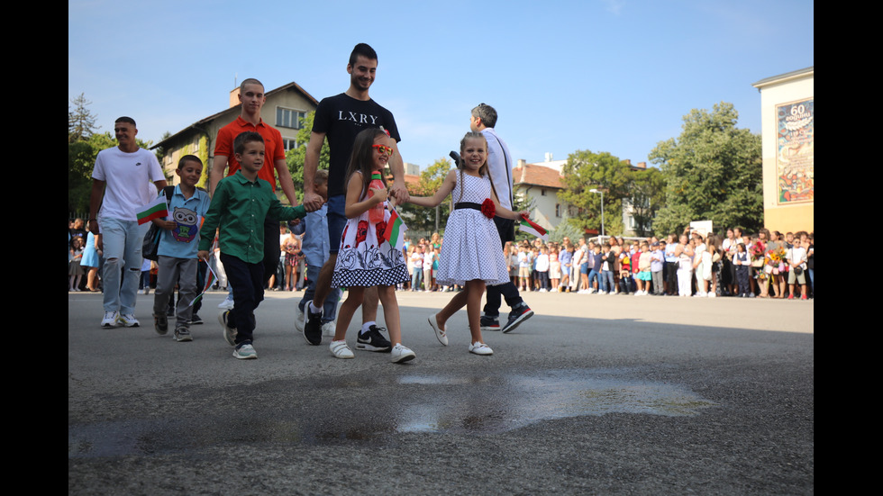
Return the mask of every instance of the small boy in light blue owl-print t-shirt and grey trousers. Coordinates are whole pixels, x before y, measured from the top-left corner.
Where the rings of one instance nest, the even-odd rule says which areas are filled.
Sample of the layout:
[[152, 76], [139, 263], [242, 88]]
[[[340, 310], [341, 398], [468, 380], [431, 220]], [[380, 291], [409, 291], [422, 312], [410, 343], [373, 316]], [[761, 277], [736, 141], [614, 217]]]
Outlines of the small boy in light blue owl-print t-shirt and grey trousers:
[[[191, 341], [191, 303], [196, 298], [196, 248], [199, 243], [199, 225], [208, 211], [211, 199], [205, 191], [196, 189], [203, 173], [203, 162], [195, 155], [187, 155], [178, 161], [175, 170], [181, 184], [168, 200], [168, 217], [154, 219], [162, 235], [157, 249], [157, 291], [153, 298], [153, 322], [160, 335], [168, 332], [166, 308], [178, 284], [180, 299], [176, 311], [175, 340]], [[164, 196], [165, 192], [159, 192]]]

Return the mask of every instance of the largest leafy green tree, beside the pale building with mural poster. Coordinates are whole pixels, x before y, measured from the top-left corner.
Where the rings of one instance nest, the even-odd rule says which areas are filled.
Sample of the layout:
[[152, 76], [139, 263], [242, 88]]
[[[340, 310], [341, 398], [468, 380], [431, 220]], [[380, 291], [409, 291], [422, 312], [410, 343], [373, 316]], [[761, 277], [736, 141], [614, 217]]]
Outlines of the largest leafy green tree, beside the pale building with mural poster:
[[680, 232], [690, 221], [715, 228], [763, 225], [760, 135], [736, 128], [733, 104], [715, 104], [711, 113], [693, 109], [684, 116], [678, 140], [660, 141], [650, 159], [660, 165], [666, 204], [656, 231]]

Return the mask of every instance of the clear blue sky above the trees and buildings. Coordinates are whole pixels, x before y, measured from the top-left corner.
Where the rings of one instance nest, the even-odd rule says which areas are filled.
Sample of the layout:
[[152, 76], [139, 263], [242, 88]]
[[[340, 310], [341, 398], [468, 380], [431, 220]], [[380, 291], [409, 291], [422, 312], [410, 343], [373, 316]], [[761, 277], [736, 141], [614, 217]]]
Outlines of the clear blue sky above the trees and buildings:
[[814, 23], [811, 0], [68, 0], [68, 103], [83, 93], [99, 131], [129, 115], [156, 142], [222, 110], [246, 77], [341, 93], [364, 41], [407, 162], [446, 157], [484, 102], [515, 158], [637, 163], [693, 108], [732, 103], [760, 132], [751, 83], [813, 66]]

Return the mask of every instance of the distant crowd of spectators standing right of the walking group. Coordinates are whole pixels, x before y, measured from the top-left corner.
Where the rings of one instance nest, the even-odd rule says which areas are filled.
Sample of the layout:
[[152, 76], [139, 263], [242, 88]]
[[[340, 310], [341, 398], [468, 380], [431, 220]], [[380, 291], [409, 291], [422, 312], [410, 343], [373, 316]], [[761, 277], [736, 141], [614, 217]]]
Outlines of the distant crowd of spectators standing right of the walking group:
[[814, 234], [767, 229], [724, 236], [698, 231], [667, 239], [623, 237], [506, 247], [509, 274], [523, 291], [799, 298], [814, 294]]

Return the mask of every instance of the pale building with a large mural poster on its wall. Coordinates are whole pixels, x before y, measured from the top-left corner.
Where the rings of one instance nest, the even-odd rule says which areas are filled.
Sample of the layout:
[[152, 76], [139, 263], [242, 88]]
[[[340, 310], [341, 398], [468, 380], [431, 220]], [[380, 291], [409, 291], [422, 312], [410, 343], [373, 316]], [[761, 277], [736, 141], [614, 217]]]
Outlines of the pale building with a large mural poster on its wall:
[[763, 223], [781, 232], [815, 230], [815, 70], [761, 79]]

